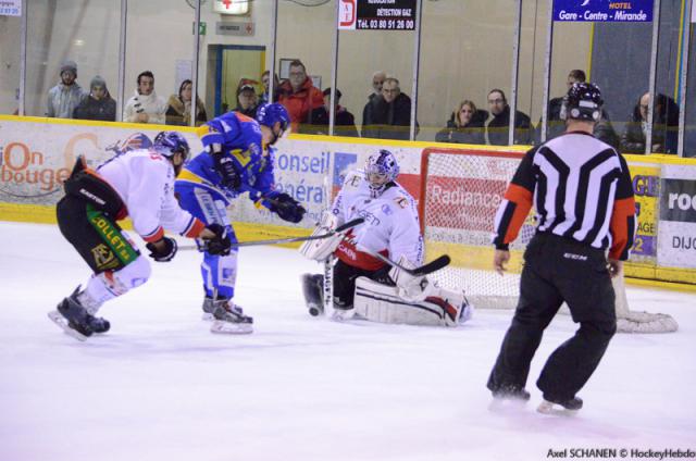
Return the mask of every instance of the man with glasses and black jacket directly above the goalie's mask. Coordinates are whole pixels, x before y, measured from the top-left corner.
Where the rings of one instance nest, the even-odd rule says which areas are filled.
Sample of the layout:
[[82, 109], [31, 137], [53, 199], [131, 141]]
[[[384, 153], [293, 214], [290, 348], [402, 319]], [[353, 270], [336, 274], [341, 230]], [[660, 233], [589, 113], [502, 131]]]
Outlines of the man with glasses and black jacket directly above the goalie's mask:
[[362, 137], [408, 140], [410, 125], [411, 98], [401, 92], [398, 79], [387, 77], [382, 96], [372, 98], [365, 108]]

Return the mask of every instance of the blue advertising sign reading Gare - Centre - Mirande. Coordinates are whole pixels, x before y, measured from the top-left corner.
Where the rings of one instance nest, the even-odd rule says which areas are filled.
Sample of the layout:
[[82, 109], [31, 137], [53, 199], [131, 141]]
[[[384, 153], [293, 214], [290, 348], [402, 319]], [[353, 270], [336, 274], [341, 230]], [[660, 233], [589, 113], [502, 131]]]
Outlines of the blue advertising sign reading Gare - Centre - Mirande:
[[554, 21], [649, 23], [654, 0], [554, 0]]

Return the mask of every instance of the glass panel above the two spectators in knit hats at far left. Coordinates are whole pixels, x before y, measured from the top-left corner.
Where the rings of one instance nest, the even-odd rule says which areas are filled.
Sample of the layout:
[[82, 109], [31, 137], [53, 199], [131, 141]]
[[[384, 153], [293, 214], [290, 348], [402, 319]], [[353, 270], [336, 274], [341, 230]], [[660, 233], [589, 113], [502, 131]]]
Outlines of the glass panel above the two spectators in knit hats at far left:
[[33, 0], [24, 5], [28, 15], [26, 115], [47, 113], [48, 91], [60, 82], [65, 60], [77, 64], [76, 82], [85, 92], [91, 78], [100, 75], [116, 99], [121, 1]]

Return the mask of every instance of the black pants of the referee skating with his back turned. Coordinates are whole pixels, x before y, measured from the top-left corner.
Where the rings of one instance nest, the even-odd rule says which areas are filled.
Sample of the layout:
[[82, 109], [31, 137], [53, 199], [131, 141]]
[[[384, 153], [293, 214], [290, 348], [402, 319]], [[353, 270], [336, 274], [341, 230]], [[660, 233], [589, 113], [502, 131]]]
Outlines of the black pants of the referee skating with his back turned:
[[544, 329], [566, 301], [580, 328], [551, 353], [536, 384], [546, 399], [571, 399], [597, 369], [617, 331], [605, 253], [575, 240], [537, 234], [524, 261], [520, 301], [488, 388], [524, 388]]

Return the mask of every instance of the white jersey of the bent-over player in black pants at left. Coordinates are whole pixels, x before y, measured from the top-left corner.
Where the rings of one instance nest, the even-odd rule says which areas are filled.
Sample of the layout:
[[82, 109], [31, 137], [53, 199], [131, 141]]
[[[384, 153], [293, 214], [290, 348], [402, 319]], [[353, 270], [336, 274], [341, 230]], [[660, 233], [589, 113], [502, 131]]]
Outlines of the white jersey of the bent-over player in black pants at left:
[[164, 228], [197, 237], [204, 224], [182, 210], [174, 197], [174, 166], [153, 150], [138, 149], [97, 169], [126, 204], [133, 227], [145, 241], [158, 241]]

